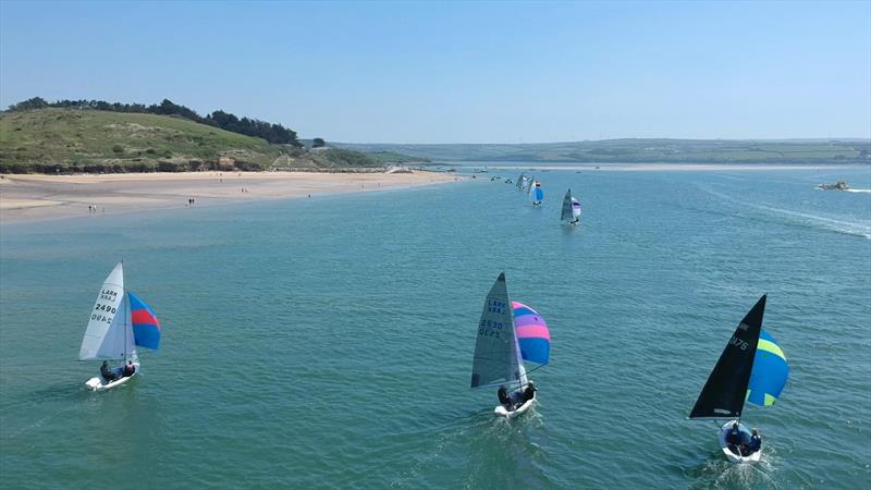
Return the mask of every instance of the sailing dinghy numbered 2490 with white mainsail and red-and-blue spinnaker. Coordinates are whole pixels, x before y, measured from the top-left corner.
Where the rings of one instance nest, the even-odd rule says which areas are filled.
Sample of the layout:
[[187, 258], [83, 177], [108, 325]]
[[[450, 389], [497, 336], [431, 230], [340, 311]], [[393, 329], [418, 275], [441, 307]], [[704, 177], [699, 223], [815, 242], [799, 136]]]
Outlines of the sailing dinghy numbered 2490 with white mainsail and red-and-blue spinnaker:
[[[139, 373], [136, 347], [157, 350], [160, 345], [160, 321], [154, 310], [135, 294], [124, 291], [124, 266], [119, 264], [102, 283], [90, 311], [78, 360], [131, 362], [134, 371], [122, 376], [123, 368], [112, 370], [115, 379], [94, 377], [85, 385], [94, 391], [124, 384]], [[122, 366], [123, 366], [122, 365]]]

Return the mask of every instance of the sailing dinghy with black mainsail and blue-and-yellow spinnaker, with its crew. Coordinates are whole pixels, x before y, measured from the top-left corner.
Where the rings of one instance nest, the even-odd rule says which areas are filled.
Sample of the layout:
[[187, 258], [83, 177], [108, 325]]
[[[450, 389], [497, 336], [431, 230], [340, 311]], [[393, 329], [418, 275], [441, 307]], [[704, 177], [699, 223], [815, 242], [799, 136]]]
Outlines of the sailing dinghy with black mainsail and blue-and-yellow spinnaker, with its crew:
[[[773, 405], [789, 376], [783, 350], [762, 331], [765, 298], [765, 295], [759, 298], [738, 323], [689, 414], [691, 419], [732, 419], [720, 429], [720, 446], [733, 463], [757, 463], [762, 457], [761, 450], [747, 450], [751, 433], [740, 424], [745, 401]], [[739, 444], [728, 441], [735, 424]]]

